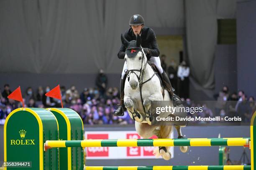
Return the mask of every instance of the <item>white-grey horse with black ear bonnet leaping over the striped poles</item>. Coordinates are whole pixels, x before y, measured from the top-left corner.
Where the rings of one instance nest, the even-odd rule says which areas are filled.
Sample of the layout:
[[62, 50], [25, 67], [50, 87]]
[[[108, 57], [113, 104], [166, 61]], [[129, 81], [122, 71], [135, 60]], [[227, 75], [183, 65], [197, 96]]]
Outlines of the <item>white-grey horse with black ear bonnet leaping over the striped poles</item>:
[[[136, 41], [127, 41], [121, 34], [121, 41], [126, 47], [125, 62], [127, 64], [124, 87], [124, 105], [128, 114], [135, 120], [136, 132], [144, 139], [156, 135], [160, 139], [170, 138], [172, 126], [151, 125], [152, 117], [150, 113], [151, 101], [170, 101], [169, 93], [163, 88], [161, 81], [156, 76], [156, 72], [147, 63], [146, 55], [141, 47], [141, 37], [137, 35]], [[181, 126], [175, 126], [178, 138], [183, 138]], [[170, 147], [159, 147], [154, 150], [156, 157], [162, 156], [164, 160], [171, 159]], [[189, 147], [181, 146], [182, 152], [187, 152]]]

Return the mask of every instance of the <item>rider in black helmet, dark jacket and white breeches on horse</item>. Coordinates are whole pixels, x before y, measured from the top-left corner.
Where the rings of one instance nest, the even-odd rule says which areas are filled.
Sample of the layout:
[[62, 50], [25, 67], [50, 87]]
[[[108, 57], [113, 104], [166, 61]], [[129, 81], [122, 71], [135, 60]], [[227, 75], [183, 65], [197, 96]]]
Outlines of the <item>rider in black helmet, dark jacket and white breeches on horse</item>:
[[[169, 86], [171, 87], [171, 91], [169, 91], [169, 94], [171, 96], [171, 99], [174, 103], [174, 105], [178, 106], [182, 103], [181, 99], [174, 94], [174, 89], [172, 88], [171, 82], [165, 73], [165, 71], [161, 67], [161, 61], [159, 58], [159, 48], [156, 43], [156, 34], [154, 33], [154, 30], [152, 28], [144, 27], [144, 19], [141, 15], [132, 15], [130, 19], [130, 27], [128, 30], [125, 31], [124, 37], [128, 41], [136, 40], [137, 34], [141, 36], [141, 46], [143, 48], [144, 53], [146, 54], [146, 57], [151, 63], [154, 63], [156, 65], [156, 68], [159, 70], [159, 72], [162, 74], [164, 81], [166, 81]], [[118, 58], [124, 59], [125, 57], [125, 46], [122, 44], [120, 47], [120, 50], [118, 52]], [[127, 69], [126, 62], [123, 66], [123, 72], [120, 80], [120, 104], [117, 105], [117, 108], [115, 109], [114, 115], [115, 116], [123, 116], [124, 115], [124, 82], [123, 80], [125, 76], [125, 70]]]

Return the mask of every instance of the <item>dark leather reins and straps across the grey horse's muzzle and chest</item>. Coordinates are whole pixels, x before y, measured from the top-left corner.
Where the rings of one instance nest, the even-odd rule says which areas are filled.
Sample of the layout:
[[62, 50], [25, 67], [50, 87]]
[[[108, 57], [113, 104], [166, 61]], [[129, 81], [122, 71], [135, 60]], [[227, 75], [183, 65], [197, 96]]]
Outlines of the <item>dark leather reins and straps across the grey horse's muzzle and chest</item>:
[[[141, 48], [141, 50], [142, 50], [142, 52], [143, 52], [143, 49], [142, 49], [142, 48]], [[144, 76], [145, 69], [146, 69], [146, 66], [147, 66], [147, 63], [144, 63], [144, 67], [142, 68], [144, 58], [145, 58], [144, 53], [142, 53], [141, 69], [139, 69], [139, 70], [138, 70], [138, 69], [131, 69], [131, 70], [128, 70], [128, 69], [127, 69], [127, 70], [125, 71], [125, 74], [126, 74], [127, 77], [129, 78], [130, 74], [131, 74], [131, 73], [134, 73], [134, 74], [136, 75], [136, 77], [138, 78], [139, 87], [140, 87], [140, 95], [141, 95], [141, 103], [142, 103], [142, 106], [143, 106], [144, 113], [146, 114], [146, 109], [145, 109], [145, 107], [144, 107], [144, 105], [143, 105], [142, 86], [143, 86], [143, 84], [145, 84], [146, 82], [150, 81], [150, 80], [154, 77], [154, 75], [156, 74], [156, 72], [154, 72], [154, 74], [153, 74], [149, 79], [147, 79], [146, 81], [143, 82], [143, 76]], [[138, 76], [138, 75], [135, 73], [135, 71], [140, 72], [140, 75]]]

